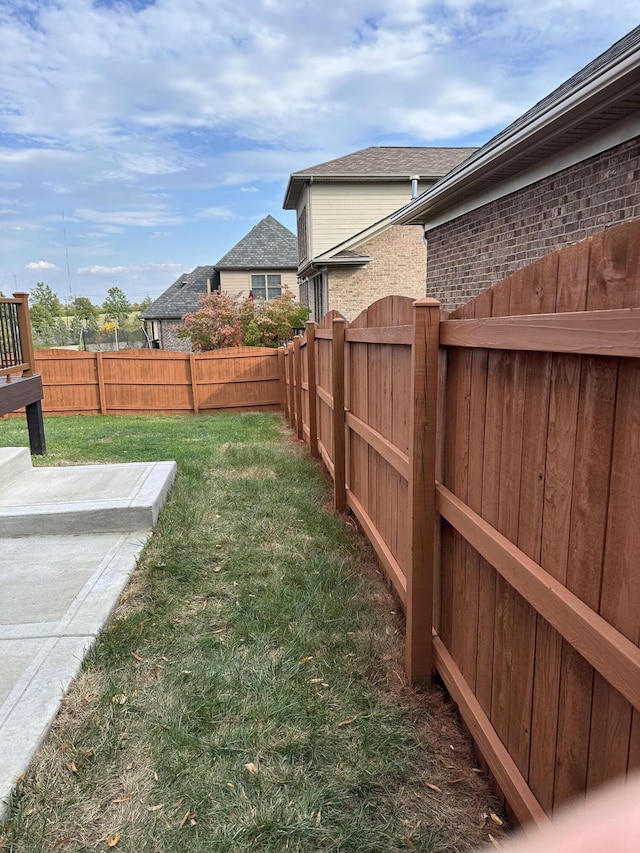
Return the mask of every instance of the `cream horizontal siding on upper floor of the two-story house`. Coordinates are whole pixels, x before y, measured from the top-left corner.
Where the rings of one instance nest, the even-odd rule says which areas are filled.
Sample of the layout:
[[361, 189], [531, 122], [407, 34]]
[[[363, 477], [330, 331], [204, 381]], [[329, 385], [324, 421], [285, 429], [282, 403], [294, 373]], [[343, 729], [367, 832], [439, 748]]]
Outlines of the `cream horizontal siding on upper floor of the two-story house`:
[[411, 182], [312, 184], [313, 257], [326, 252], [411, 200]]

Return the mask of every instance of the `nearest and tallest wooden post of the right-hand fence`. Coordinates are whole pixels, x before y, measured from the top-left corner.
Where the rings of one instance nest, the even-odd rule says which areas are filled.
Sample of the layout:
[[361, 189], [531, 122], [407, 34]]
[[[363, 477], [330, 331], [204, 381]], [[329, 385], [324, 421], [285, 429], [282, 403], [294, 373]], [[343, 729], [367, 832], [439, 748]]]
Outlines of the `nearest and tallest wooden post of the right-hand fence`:
[[409, 555], [405, 667], [412, 684], [431, 681], [435, 560], [436, 419], [440, 303], [413, 308], [411, 444], [409, 447]]

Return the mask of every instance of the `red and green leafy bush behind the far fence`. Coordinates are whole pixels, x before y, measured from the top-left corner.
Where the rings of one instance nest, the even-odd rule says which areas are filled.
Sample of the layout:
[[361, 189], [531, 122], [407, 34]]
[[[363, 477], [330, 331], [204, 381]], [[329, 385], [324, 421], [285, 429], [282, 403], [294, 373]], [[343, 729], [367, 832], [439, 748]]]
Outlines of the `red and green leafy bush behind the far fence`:
[[185, 314], [176, 334], [189, 338], [196, 352], [242, 345], [277, 347], [308, 317], [308, 306], [296, 302], [289, 291], [269, 302], [212, 293], [202, 297], [198, 311]]

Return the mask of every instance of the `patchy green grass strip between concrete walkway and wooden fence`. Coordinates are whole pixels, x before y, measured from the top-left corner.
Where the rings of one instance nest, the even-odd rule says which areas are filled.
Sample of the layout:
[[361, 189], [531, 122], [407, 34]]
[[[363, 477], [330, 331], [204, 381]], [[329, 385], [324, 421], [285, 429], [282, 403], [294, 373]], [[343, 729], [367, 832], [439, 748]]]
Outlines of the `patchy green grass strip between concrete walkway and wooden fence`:
[[[173, 458], [178, 477], [1, 848], [436, 853], [499, 834], [451, 709], [406, 685], [370, 551], [278, 416], [46, 432], [44, 464]], [[25, 436], [0, 421], [0, 444]]]

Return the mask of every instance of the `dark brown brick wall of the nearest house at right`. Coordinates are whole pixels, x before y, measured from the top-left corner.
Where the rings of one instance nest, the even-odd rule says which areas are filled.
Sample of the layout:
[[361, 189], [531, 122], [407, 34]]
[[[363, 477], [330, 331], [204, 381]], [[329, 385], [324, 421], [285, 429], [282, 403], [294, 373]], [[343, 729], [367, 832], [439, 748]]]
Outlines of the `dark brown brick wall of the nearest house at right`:
[[640, 139], [427, 234], [427, 295], [449, 311], [538, 258], [640, 217]]

